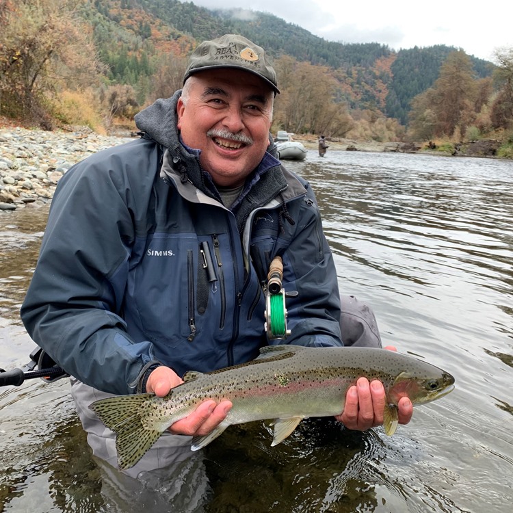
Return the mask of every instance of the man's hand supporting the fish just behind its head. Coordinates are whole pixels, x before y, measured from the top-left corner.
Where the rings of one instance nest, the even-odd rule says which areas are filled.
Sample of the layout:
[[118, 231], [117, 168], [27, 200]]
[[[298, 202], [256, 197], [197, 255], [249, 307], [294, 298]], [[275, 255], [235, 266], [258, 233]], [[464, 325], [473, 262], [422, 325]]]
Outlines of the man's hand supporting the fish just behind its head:
[[[395, 351], [392, 345], [386, 350]], [[383, 423], [386, 395], [382, 382], [367, 378], [358, 378], [356, 386], [351, 386], [345, 396], [345, 406], [341, 415], [335, 419], [350, 430], [365, 431]], [[407, 424], [413, 415], [413, 405], [408, 397], [399, 400], [399, 424]]]

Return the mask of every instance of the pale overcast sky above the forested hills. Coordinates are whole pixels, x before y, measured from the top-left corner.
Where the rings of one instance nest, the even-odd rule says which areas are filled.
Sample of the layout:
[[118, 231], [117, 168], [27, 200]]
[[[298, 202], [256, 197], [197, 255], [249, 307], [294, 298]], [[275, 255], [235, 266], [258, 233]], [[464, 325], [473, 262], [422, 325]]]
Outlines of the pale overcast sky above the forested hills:
[[[513, 1], [192, 0], [206, 8], [268, 12], [326, 40], [379, 42], [393, 50], [447, 44], [486, 60], [513, 47]], [[249, 13], [250, 14], [250, 13]]]

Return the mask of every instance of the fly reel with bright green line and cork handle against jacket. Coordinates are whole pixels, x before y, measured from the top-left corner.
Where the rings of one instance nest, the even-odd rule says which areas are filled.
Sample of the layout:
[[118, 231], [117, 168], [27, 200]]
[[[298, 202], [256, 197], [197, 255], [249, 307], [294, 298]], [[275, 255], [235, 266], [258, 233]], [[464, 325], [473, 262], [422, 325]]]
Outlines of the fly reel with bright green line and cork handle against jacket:
[[282, 287], [283, 262], [281, 257], [275, 257], [269, 265], [267, 274], [267, 291], [265, 298], [265, 324], [269, 340], [286, 339], [287, 309], [285, 308], [285, 290]]

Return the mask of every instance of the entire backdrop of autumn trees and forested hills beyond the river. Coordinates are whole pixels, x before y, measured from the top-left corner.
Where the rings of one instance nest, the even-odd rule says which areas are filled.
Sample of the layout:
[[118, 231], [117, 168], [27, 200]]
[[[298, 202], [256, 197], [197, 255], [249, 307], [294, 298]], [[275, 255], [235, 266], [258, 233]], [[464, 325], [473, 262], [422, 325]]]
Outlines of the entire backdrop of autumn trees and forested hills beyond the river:
[[181, 88], [198, 42], [242, 34], [272, 57], [272, 129], [404, 140], [500, 135], [513, 122], [513, 51], [496, 66], [438, 45], [343, 44], [271, 14], [179, 0], [4, 0], [0, 116], [109, 130]]

